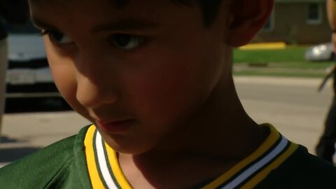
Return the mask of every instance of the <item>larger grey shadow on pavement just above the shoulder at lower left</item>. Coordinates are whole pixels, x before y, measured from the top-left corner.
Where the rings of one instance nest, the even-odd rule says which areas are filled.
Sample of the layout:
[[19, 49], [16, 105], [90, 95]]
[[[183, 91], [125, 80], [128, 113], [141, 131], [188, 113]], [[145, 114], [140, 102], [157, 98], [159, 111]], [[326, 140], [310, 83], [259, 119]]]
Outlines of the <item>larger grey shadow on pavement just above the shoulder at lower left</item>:
[[23, 147], [0, 149], [0, 162], [13, 162], [25, 157], [26, 155], [34, 153], [39, 149], [41, 148]]

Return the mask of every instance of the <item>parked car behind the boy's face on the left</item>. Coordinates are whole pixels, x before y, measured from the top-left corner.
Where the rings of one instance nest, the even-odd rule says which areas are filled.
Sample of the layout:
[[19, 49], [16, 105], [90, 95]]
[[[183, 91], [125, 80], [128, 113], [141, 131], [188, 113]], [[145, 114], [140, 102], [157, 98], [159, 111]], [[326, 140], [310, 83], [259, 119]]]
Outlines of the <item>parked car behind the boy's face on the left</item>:
[[31, 23], [8, 29], [6, 99], [60, 97], [45, 55], [43, 38]]

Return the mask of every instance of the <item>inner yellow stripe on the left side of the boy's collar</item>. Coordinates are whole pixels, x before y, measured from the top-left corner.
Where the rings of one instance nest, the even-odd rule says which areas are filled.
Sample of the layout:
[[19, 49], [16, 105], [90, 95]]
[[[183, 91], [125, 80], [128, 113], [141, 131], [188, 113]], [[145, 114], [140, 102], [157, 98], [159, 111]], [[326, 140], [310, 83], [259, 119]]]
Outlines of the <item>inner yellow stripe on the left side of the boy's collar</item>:
[[109, 157], [109, 163], [112, 168], [113, 175], [116, 177], [116, 180], [121, 188], [123, 189], [132, 189], [132, 186], [127, 181], [123, 170], [121, 170], [116, 151], [114, 151], [108, 144], [105, 143], [107, 156]]

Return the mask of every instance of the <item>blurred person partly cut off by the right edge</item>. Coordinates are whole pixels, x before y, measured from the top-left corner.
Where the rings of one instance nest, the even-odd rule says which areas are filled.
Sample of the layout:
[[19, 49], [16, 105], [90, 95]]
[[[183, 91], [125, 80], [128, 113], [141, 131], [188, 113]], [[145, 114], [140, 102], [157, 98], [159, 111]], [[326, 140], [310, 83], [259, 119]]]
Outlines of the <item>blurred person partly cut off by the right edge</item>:
[[[336, 52], [336, 1], [328, 0], [326, 3], [328, 22], [331, 34], [331, 42], [333, 51]], [[334, 59], [335, 60], [335, 59]], [[328, 111], [328, 116], [325, 119], [325, 127], [321, 138], [316, 146], [316, 155], [323, 160], [328, 162], [333, 162], [333, 156], [335, 154], [335, 142], [336, 142], [336, 64], [332, 65], [329, 69], [327, 75], [325, 76], [323, 83], [318, 88], [319, 91], [322, 90], [326, 81], [329, 78], [333, 78], [333, 99], [330, 109]]]

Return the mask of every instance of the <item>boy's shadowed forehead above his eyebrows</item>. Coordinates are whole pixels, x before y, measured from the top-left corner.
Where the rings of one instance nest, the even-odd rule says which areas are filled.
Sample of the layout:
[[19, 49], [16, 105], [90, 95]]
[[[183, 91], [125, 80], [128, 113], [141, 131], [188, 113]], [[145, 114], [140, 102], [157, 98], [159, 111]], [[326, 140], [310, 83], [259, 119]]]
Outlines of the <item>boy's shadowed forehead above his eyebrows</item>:
[[[31, 17], [40, 20], [73, 18], [73, 15], [85, 16], [94, 15], [94, 18], [118, 18], [118, 16], [144, 16], [148, 11], [142, 10], [148, 8], [147, 5], [153, 3], [151, 0], [28, 0], [31, 10]], [[166, 2], [171, 0], [160, 0]], [[155, 1], [153, 1], [155, 2]], [[155, 3], [157, 6], [160, 3]], [[160, 5], [162, 6], [162, 5]]]

